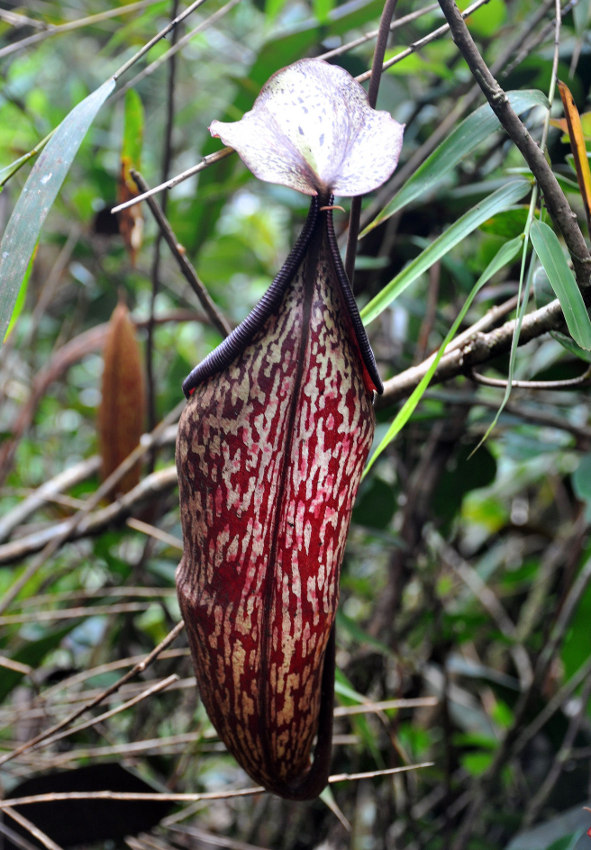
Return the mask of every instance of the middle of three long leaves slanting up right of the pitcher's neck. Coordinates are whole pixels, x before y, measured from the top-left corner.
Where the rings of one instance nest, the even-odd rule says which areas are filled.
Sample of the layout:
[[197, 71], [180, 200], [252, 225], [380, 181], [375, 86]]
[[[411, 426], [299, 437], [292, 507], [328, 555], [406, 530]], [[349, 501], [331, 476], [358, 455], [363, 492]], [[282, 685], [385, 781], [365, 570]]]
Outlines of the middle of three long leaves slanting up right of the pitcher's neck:
[[480, 201], [472, 209], [464, 213], [445, 233], [442, 233], [432, 242], [418, 257], [415, 257], [405, 268], [396, 275], [386, 286], [373, 298], [361, 311], [361, 317], [365, 324], [373, 321], [388, 307], [395, 298], [414, 283], [424, 272], [451, 251], [459, 242], [466, 238], [473, 230], [493, 215], [508, 209], [512, 204], [520, 201], [529, 191], [528, 180], [512, 180], [488, 198]]

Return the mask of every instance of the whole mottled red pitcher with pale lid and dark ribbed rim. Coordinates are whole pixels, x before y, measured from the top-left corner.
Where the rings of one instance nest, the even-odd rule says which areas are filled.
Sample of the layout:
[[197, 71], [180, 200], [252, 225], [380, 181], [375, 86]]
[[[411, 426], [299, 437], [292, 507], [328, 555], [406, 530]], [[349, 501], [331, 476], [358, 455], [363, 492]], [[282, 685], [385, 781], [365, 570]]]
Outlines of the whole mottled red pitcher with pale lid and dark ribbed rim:
[[346, 71], [303, 60], [211, 129], [257, 176], [313, 198], [269, 290], [183, 385], [177, 588], [220, 737], [256, 782], [307, 799], [328, 778], [339, 572], [382, 389], [332, 193], [383, 182], [402, 127]]

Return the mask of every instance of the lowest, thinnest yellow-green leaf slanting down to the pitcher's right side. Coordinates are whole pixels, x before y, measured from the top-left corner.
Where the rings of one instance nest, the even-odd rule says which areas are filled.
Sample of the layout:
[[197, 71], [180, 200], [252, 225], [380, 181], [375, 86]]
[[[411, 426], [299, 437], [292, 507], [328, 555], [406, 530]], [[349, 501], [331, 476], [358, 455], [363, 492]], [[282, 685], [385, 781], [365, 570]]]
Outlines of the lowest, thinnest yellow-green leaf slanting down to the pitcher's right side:
[[369, 472], [371, 467], [374, 465], [374, 463], [376, 462], [378, 457], [381, 455], [381, 453], [384, 451], [384, 449], [387, 446], [390, 445], [390, 443], [396, 437], [398, 432], [401, 431], [402, 428], [404, 428], [404, 426], [406, 425], [406, 423], [408, 422], [408, 420], [412, 416], [417, 404], [419, 403], [419, 401], [421, 400], [421, 398], [423, 397], [423, 395], [425, 393], [425, 390], [429, 386], [431, 378], [435, 374], [435, 370], [437, 369], [437, 366], [439, 365], [439, 361], [441, 360], [441, 358], [445, 354], [445, 349], [447, 348], [449, 343], [452, 341], [452, 339], [456, 335], [456, 332], [457, 332], [461, 322], [463, 321], [464, 316], [466, 315], [466, 313], [470, 309], [470, 305], [474, 301], [474, 298], [476, 297], [478, 292], [482, 289], [482, 287], [485, 285], [485, 283], [488, 283], [488, 281], [491, 279], [491, 277], [493, 275], [495, 275], [504, 266], [506, 266], [507, 263], [510, 263], [517, 256], [517, 254], [519, 253], [519, 249], [522, 245], [522, 242], [523, 242], [523, 238], [521, 236], [517, 236], [515, 239], [511, 239], [510, 242], [506, 242], [499, 249], [497, 254], [493, 257], [493, 259], [490, 261], [490, 263], [488, 264], [486, 269], [483, 271], [481, 276], [478, 278], [478, 280], [474, 284], [472, 290], [470, 291], [470, 294], [466, 298], [464, 306], [462, 307], [462, 309], [458, 313], [453, 325], [449, 329], [447, 336], [445, 337], [445, 339], [441, 343], [439, 351], [433, 357], [433, 360], [432, 360], [431, 364], [429, 365], [429, 368], [427, 369], [424, 376], [421, 378], [420, 382], [417, 384], [417, 386], [415, 387], [415, 389], [413, 390], [411, 395], [407, 398], [405, 403], [402, 405], [402, 407], [398, 411], [394, 421], [392, 422], [392, 424], [388, 428], [383, 439], [381, 440], [379, 445], [376, 447], [373, 455], [369, 459], [368, 464], [367, 464], [365, 471], [363, 473], [364, 476], [367, 475], [367, 473]]

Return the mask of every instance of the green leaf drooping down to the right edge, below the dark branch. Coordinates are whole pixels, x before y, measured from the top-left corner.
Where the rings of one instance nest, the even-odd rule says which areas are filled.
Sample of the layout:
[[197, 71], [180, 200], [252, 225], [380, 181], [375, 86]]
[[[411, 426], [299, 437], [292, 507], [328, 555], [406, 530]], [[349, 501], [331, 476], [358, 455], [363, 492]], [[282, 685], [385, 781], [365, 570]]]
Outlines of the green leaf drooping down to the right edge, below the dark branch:
[[551, 227], [535, 219], [531, 226], [531, 241], [560, 301], [570, 335], [581, 348], [591, 350], [589, 314], [558, 237]]

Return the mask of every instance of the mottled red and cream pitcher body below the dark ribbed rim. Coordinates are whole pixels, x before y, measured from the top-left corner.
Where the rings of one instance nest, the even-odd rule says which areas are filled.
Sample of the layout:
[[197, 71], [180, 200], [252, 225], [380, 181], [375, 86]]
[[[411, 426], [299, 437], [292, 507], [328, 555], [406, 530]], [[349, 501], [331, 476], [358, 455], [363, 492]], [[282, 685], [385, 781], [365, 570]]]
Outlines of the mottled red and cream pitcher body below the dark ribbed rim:
[[177, 586], [201, 696], [270, 790], [300, 780], [372, 398], [320, 216], [277, 313], [198, 385], [177, 442]]

